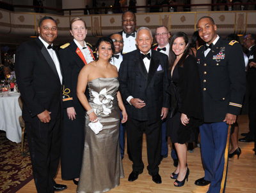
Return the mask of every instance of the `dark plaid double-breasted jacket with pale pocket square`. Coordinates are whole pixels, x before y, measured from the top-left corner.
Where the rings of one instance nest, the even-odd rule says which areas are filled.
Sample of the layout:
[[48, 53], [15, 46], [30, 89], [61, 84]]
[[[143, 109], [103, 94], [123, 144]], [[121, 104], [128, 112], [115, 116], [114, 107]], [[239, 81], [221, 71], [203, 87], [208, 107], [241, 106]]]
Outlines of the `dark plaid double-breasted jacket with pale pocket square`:
[[[166, 93], [167, 66], [167, 55], [155, 50], [152, 50], [148, 73], [140, 50], [124, 55], [118, 75], [119, 89], [128, 116], [140, 121], [148, 120], [150, 123], [157, 122], [161, 118], [161, 109], [168, 108], [170, 100]], [[146, 106], [141, 109], [135, 108], [127, 102], [129, 96], [145, 101]]]

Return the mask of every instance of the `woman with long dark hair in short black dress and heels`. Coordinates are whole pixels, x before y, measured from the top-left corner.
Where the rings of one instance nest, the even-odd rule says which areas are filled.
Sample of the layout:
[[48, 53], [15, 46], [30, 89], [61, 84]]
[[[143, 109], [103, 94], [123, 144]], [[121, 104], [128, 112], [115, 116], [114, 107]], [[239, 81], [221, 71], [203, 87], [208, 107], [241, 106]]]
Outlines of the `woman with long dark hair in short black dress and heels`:
[[177, 150], [179, 165], [170, 175], [174, 185], [181, 187], [188, 180], [186, 142], [194, 140], [193, 129], [202, 124], [202, 99], [196, 58], [189, 55], [188, 36], [184, 32], [173, 35], [170, 43], [168, 80], [171, 108], [166, 132]]

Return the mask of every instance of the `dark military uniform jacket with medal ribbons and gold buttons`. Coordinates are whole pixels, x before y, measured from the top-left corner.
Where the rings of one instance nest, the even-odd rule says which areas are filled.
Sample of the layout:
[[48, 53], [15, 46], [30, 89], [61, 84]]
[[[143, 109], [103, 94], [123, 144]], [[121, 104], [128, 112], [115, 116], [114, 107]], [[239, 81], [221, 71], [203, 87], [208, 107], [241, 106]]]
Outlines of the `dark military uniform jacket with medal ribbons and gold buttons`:
[[246, 88], [244, 56], [237, 41], [218, 39], [204, 55], [197, 52], [197, 62], [204, 104], [205, 122], [223, 122], [227, 113], [239, 115]]

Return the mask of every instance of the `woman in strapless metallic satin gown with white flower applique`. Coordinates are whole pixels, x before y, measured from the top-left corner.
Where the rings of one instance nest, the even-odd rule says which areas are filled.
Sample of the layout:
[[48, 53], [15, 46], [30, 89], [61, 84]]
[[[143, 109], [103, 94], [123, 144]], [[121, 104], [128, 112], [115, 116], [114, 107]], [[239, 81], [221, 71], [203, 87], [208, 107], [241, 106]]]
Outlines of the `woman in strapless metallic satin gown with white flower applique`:
[[[122, 123], [127, 113], [118, 92], [118, 72], [109, 63], [115, 47], [110, 38], [96, 43], [97, 59], [81, 69], [77, 82], [77, 97], [86, 109], [83, 165], [77, 192], [107, 192], [124, 178], [119, 147], [120, 109]], [[90, 99], [84, 91], [88, 87]], [[100, 122], [102, 131], [95, 134], [88, 126]]]

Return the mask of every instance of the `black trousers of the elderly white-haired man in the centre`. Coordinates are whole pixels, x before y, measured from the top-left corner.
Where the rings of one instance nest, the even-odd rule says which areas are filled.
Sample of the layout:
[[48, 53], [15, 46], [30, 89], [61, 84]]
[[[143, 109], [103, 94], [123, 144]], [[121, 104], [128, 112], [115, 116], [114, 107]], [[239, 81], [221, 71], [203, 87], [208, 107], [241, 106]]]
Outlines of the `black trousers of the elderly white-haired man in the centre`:
[[161, 145], [162, 145], [162, 121], [159, 120], [154, 124], [148, 124], [148, 121], [140, 121], [128, 117], [127, 124], [127, 148], [129, 149], [129, 157], [132, 159], [132, 170], [142, 171], [144, 164], [142, 157], [142, 140], [143, 132], [147, 136], [147, 169], [151, 173], [158, 173], [158, 165], [161, 162]]

